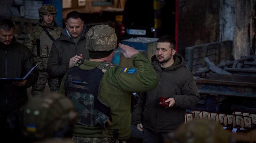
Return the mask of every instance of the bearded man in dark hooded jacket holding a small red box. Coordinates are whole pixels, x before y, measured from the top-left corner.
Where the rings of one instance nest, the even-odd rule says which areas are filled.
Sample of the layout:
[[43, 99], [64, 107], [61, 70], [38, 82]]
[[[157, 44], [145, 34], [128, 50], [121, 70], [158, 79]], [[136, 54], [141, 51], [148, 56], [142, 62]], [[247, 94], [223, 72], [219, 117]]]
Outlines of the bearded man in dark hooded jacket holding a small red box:
[[[176, 42], [171, 36], [162, 36], [156, 45], [151, 63], [158, 77], [156, 89], [140, 93], [133, 112], [133, 124], [143, 132], [145, 142], [165, 140], [168, 132], [176, 130], [185, 121], [186, 109], [195, 107], [200, 100], [196, 83], [185, 60], [176, 54]], [[159, 105], [165, 97], [167, 107]]]

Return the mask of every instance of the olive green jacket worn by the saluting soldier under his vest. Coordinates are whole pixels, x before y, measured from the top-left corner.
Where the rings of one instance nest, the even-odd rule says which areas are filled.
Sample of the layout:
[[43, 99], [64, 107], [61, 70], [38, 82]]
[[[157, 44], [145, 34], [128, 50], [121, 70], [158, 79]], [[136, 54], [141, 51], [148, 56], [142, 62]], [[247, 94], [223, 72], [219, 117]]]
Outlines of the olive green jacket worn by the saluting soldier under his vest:
[[[131, 93], [145, 92], [155, 89], [157, 85], [157, 76], [151, 63], [141, 54], [132, 56], [135, 72], [128, 73], [130, 68], [114, 66], [107, 70], [101, 80], [101, 86], [98, 98], [110, 107], [113, 126], [107, 127], [108, 137], [112, 137], [112, 132], [119, 131], [118, 139], [128, 140], [131, 132]], [[95, 61], [84, 60], [79, 67], [83, 70], [94, 69], [99, 63]], [[124, 72], [125, 71], [125, 72]], [[85, 75], [87, 76], [87, 75]], [[66, 94], [64, 76], [59, 93]], [[75, 125], [73, 136], [76, 137], [105, 137], [102, 133], [105, 131], [101, 126], [88, 127], [84, 125]]]

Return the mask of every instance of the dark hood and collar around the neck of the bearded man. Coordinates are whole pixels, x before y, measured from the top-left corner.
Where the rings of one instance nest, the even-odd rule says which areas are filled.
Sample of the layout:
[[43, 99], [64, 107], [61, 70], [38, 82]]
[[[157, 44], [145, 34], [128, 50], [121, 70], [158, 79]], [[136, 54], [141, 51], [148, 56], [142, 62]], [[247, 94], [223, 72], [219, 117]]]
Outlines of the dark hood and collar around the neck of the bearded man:
[[[165, 70], [176, 70], [177, 68], [180, 68], [182, 66], [186, 67], [185, 60], [183, 59], [183, 57], [180, 54], [177, 54], [177, 53], [174, 54], [173, 60], [174, 60], [173, 65], [165, 68]], [[151, 57], [151, 63], [155, 70], [157, 70], [159, 72], [162, 71], [160, 63], [158, 62], [158, 60], [156, 58], [156, 55]]]

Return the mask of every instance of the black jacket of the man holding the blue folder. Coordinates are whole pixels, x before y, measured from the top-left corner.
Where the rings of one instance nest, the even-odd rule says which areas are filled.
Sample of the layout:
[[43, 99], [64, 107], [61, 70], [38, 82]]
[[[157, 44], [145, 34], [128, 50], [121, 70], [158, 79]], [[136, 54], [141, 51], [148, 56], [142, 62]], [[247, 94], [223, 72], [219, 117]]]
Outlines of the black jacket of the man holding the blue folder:
[[[15, 38], [9, 45], [0, 42], [0, 78], [23, 78], [35, 66], [29, 48], [16, 42]], [[27, 102], [27, 88], [31, 87], [38, 77], [34, 69], [27, 77], [25, 87], [0, 82], [0, 113], [19, 109]]]

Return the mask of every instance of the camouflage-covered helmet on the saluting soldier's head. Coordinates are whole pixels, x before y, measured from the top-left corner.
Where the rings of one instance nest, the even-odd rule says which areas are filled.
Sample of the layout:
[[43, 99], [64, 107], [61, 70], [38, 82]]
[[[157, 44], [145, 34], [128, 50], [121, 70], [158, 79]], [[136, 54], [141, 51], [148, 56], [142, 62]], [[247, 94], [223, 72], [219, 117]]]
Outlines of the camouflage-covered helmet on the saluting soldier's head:
[[116, 48], [115, 29], [108, 25], [96, 25], [86, 33], [86, 48], [89, 51], [110, 51]]

